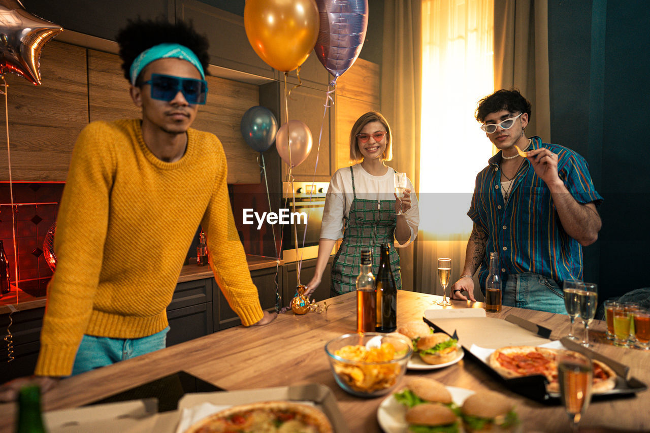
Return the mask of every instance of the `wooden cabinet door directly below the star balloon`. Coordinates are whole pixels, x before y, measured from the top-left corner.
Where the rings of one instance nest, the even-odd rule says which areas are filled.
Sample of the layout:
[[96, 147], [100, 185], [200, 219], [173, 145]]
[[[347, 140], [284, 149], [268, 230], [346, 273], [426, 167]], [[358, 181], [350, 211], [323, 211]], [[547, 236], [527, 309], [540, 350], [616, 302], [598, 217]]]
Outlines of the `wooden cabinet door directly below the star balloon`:
[[[72, 148], [88, 124], [86, 50], [50, 41], [42, 49], [40, 73], [40, 86], [6, 74], [12, 179], [64, 182]], [[0, 180], [8, 181], [4, 147]]]

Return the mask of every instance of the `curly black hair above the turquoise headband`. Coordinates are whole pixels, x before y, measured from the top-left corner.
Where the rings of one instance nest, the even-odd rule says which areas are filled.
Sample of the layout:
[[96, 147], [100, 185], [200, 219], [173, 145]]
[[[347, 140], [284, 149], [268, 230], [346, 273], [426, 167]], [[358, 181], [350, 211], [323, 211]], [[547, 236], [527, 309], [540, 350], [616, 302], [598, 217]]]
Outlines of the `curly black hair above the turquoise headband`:
[[191, 23], [177, 21], [173, 24], [162, 18], [157, 20], [129, 20], [118, 32], [116, 41], [120, 46], [122, 70], [127, 81], [131, 81], [131, 64], [142, 51], [158, 44], [181, 44], [188, 47], [198, 57], [207, 75], [210, 60], [207, 52], [209, 42], [205, 36], [196, 33]]

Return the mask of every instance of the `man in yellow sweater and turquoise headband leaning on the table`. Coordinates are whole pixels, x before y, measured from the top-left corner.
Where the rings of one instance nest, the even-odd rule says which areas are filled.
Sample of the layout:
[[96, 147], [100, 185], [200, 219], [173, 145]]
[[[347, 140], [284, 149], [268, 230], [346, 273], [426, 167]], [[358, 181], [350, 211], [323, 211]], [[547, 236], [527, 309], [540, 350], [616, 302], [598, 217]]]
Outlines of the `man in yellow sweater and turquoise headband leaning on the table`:
[[45, 389], [164, 348], [166, 307], [199, 224], [242, 324], [276, 317], [260, 307], [235, 230], [222, 144], [190, 128], [207, 96], [207, 40], [183, 23], [136, 21], [118, 44], [142, 120], [92, 122], [75, 144], [35, 371]]

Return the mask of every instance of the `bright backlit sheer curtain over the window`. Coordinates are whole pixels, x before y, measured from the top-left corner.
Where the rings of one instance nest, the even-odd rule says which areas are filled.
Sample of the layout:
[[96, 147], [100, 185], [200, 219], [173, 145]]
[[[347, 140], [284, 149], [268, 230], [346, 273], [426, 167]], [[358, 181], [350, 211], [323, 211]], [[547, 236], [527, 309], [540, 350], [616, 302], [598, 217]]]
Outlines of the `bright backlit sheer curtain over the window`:
[[493, 8], [493, 0], [422, 0], [416, 289], [424, 293], [442, 294], [438, 257], [452, 259], [450, 281], [460, 276], [472, 229], [466, 214], [474, 179], [492, 155], [474, 111], [494, 88]]

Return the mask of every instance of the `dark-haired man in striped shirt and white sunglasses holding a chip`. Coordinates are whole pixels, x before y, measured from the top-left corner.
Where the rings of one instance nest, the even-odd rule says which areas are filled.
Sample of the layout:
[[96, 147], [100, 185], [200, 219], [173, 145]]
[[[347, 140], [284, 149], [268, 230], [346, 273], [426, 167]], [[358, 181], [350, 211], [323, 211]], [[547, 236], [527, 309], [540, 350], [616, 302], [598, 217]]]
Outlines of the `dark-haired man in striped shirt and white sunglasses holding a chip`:
[[498, 90], [478, 105], [476, 120], [500, 151], [476, 176], [467, 212], [474, 227], [452, 298], [474, 300], [472, 276], [480, 265], [485, 291], [489, 253], [497, 252], [503, 305], [564, 313], [560, 287], [582, 279], [582, 246], [598, 238], [596, 206], [603, 198], [582, 156], [526, 138], [529, 119], [530, 102], [517, 90]]

